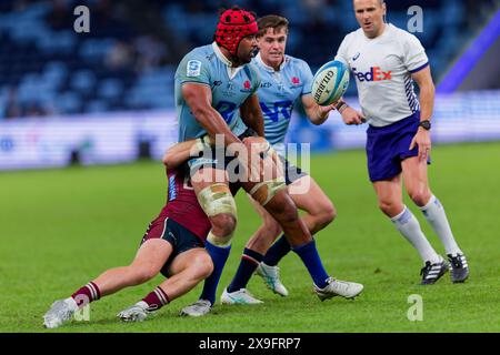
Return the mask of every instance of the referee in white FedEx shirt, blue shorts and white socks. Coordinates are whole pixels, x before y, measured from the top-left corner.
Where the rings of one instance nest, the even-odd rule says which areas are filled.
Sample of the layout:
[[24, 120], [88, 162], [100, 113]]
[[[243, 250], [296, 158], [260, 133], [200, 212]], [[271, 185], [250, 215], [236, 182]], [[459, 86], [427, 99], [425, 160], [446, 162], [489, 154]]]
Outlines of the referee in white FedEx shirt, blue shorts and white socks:
[[[343, 39], [336, 59], [346, 63], [359, 92], [362, 113], [343, 101], [337, 109], [347, 124], [367, 118], [368, 171], [379, 206], [419, 252], [422, 284], [433, 284], [448, 268], [453, 283], [464, 282], [469, 267], [454, 241], [444, 209], [429, 189], [431, 116], [434, 101], [429, 59], [413, 34], [384, 22], [383, 0], [353, 0], [359, 30]], [[420, 89], [420, 102], [413, 91]], [[444, 245], [450, 265], [432, 248], [419, 222], [402, 202], [401, 181]]]

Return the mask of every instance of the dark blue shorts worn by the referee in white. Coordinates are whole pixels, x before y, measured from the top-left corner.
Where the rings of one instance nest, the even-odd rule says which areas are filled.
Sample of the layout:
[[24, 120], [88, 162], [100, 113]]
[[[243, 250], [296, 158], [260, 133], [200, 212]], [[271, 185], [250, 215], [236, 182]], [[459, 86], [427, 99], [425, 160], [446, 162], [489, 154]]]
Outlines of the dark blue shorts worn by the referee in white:
[[[372, 126], [367, 130], [367, 158], [370, 181], [390, 180], [401, 173], [401, 162], [419, 154], [419, 148], [410, 151], [410, 144], [417, 134], [420, 112], [386, 126]], [[428, 158], [430, 164], [430, 158]]]

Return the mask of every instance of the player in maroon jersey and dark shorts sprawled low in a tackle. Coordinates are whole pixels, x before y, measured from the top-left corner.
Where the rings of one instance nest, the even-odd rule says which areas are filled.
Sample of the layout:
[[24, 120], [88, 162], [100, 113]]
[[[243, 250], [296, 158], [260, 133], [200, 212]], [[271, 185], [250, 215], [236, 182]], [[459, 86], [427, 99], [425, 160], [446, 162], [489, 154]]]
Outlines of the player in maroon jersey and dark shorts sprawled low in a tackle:
[[43, 316], [44, 327], [56, 328], [90, 302], [140, 285], [161, 272], [169, 278], [134, 306], [118, 314], [123, 321], [142, 321], [210, 275], [213, 265], [204, 250], [210, 221], [183, 170], [169, 169], [167, 176], [167, 204], [149, 224], [133, 262], [129, 266], [110, 268], [70, 297], [56, 301]]

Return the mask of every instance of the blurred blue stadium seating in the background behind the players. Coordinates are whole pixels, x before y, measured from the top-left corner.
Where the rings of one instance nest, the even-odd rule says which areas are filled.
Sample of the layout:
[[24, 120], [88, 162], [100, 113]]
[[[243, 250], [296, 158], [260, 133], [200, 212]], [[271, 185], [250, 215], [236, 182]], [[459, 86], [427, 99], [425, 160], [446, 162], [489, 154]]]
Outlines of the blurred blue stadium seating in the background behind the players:
[[[407, 9], [413, 1], [387, 2], [388, 20], [406, 27]], [[129, 2], [86, 3], [91, 13], [90, 33], [73, 31], [77, 1], [1, 1], [0, 119], [173, 108], [176, 65], [186, 51], [212, 40], [217, 6], [211, 1], [148, 1], [143, 16], [161, 22], [154, 26], [154, 21], [137, 19], [127, 8]], [[258, 16], [288, 17], [288, 52], [307, 60], [313, 71], [334, 55], [343, 34], [357, 28], [351, 0], [238, 3]], [[464, 24], [462, 1], [427, 1], [426, 30], [416, 34], [432, 58], [434, 78], [446, 71], [468, 39]], [[148, 52], [149, 44], [144, 53], [138, 44], [140, 37], [149, 43], [157, 41], [157, 53]], [[356, 85], [350, 90], [348, 94]]]

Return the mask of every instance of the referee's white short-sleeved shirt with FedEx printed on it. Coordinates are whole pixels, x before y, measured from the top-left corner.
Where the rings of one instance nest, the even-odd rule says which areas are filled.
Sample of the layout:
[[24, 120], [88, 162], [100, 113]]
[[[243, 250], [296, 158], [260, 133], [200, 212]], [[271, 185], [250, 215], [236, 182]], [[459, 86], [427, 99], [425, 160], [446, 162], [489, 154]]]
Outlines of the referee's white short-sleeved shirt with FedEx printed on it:
[[411, 73], [429, 59], [413, 34], [388, 23], [381, 36], [369, 39], [360, 28], [346, 36], [336, 60], [351, 70], [369, 124], [384, 126], [420, 110]]

